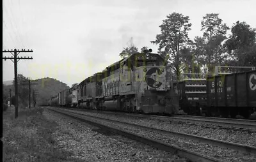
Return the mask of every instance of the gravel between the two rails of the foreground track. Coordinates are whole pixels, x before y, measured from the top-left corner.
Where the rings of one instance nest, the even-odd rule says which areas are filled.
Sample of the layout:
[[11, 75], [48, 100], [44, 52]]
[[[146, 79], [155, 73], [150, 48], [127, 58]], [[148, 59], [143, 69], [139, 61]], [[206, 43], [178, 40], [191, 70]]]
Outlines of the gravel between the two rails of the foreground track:
[[[83, 115], [78, 115], [78, 116], [84, 117]], [[108, 122], [102, 119], [95, 119], [93, 117], [84, 117], [84, 118], [90, 119], [90, 121], [92, 120], [97, 121], [100, 124], [110, 126], [111, 128], [114, 127], [114, 128], [123, 129], [124, 131], [129, 131], [141, 136], [146, 136], [148, 138], [159, 140], [166, 144], [175, 145], [177, 147], [198, 152], [200, 154], [205, 154], [207, 156], [218, 158], [223, 161], [256, 161], [256, 154], [248, 154], [244, 152], [234, 151], [232, 149], [223, 149], [218, 146], [208, 145], [200, 142], [196, 143], [193, 140], [180, 138], [179, 136], [164, 135], [154, 131], [148, 131], [148, 130], [136, 128], [134, 126], [129, 126], [127, 124], [120, 124], [118, 122]]]

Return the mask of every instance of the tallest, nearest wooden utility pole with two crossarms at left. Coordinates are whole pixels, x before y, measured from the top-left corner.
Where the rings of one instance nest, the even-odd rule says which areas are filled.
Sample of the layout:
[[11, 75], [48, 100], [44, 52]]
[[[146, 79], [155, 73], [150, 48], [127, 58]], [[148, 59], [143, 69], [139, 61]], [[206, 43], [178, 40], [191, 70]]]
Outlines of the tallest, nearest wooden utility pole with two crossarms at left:
[[[2, 52], [10, 52], [13, 57], [3, 57], [4, 61], [6, 61], [6, 59], [10, 59], [13, 63], [14, 63], [14, 84], [15, 84], [15, 118], [18, 117], [18, 74], [17, 74], [17, 62], [20, 59], [33, 59], [32, 57], [17, 57], [17, 55], [19, 55], [20, 52], [33, 52], [33, 50], [25, 50], [25, 49], [21, 49], [21, 50], [4, 50]], [[18, 59], [18, 60], [17, 60]]]

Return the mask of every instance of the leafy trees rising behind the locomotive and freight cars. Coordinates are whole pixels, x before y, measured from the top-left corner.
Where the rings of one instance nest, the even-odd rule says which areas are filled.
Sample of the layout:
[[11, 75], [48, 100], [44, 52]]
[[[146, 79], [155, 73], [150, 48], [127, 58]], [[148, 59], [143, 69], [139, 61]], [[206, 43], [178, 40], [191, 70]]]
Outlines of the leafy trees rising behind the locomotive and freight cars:
[[[174, 12], [163, 20], [160, 34], [151, 41], [159, 46], [158, 53], [168, 60], [167, 68], [177, 77], [180, 73], [212, 73], [217, 65], [256, 66], [256, 29], [246, 22], [237, 21], [230, 28], [218, 13], [207, 13], [201, 21], [203, 35], [189, 40], [191, 26], [188, 16]], [[230, 29], [231, 34], [227, 36]], [[138, 48], [131, 38], [120, 56], [135, 52]]]

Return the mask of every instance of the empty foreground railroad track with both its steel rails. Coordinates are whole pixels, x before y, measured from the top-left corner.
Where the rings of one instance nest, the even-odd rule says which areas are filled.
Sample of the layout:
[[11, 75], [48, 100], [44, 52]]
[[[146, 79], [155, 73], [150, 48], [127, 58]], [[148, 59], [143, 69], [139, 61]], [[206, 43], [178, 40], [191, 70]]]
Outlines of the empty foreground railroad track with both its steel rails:
[[[50, 109], [50, 110], [52, 110], [52, 109]], [[186, 134], [186, 133], [178, 133], [178, 132], [175, 132], [175, 131], [166, 131], [166, 130], [163, 130], [163, 129], [151, 128], [151, 127], [148, 127], [148, 126], [140, 126], [138, 124], [132, 124], [132, 123], [123, 122], [123, 121], [115, 121], [115, 120], [112, 120], [112, 119], [106, 119], [106, 118], [102, 118], [102, 117], [95, 117], [95, 116], [92, 116], [92, 115], [83, 114], [81, 112], [78, 113], [78, 112], [74, 112], [74, 111], [71, 111], [71, 110], [63, 111], [63, 109], [62, 109], [61, 112], [59, 110], [54, 110], [54, 111], [59, 112], [61, 114], [68, 115], [70, 117], [74, 117], [74, 118], [82, 120], [82, 121], [89, 122], [90, 124], [93, 124], [93, 125], [96, 124], [96, 126], [99, 126], [100, 128], [117, 132], [120, 135], [127, 136], [128, 138], [132, 138], [134, 140], [139, 140], [140, 142], [152, 145], [152, 146], [157, 147], [159, 149], [162, 149], [164, 151], [177, 153], [180, 156], [182, 156], [184, 158], [188, 158], [192, 161], [198, 161], [198, 160], [202, 160], [202, 161], [221, 161], [221, 159], [212, 158], [212, 157], [209, 157], [209, 156], [205, 156], [204, 154], [198, 154], [197, 152], [188, 151], [186, 149], [175, 147], [173, 145], [165, 144], [165, 143], [163, 143], [159, 140], [154, 140], [154, 139], [147, 138], [145, 136], [136, 135], [136, 133], [131, 133], [131, 132], [119, 129], [119, 128], [115, 128], [115, 126], [114, 127], [113, 126], [109, 127], [109, 126], [106, 126], [106, 122], [129, 125], [129, 126], [132, 126], [134, 128], [138, 128], [138, 129], [144, 129], [144, 130], [151, 131], [151, 132], [154, 131], [154, 132], [160, 133], [161, 135], [182, 136], [182, 137], [188, 138], [190, 140], [197, 140], [199, 142], [205, 142], [207, 144], [218, 145], [218, 146], [221, 146], [221, 147], [228, 147], [228, 148], [231, 148], [231, 149], [256, 154], [256, 147], [251, 147], [251, 146], [247, 146], [247, 145], [234, 144], [234, 143], [231, 143], [231, 142], [224, 142], [224, 141], [221, 141], [221, 140], [215, 140], [215, 139], [205, 138], [205, 137], [196, 136], [196, 135], [189, 135], [189, 134]], [[86, 117], [87, 119], [84, 118], [84, 117]], [[88, 117], [91, 118], [91, 119], [88, 119]], [[94, 119], [94, 120], [92, 120], [92, 119]], [[96, 122], [95, 119], [98, 122]], [[102, 122], [100, 123], [99, 121], [102, 121]]]

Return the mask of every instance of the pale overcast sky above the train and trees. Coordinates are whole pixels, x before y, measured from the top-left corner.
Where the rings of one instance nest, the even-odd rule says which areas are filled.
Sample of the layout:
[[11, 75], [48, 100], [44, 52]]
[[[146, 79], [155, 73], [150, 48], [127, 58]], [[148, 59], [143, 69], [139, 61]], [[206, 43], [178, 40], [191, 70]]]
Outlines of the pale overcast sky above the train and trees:
[[[256, 28], [255, 6], [255, 0], [3, 0], [3, 50], [32, 49], [19, 54], [33, 59], [20, 60], [18, 73], [71, 86], [120, 60], [131, 38], [139, 50], [157, 52], [150, 41], [173, 12], [189, 16], [193, 40], [202, 36], [207, 13], [219, 13], [229, 27], [239, 20]], [[3, 61], [3, 80], [13, 78], [13, 62]]]

